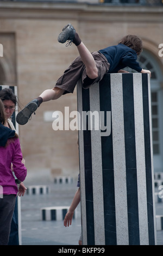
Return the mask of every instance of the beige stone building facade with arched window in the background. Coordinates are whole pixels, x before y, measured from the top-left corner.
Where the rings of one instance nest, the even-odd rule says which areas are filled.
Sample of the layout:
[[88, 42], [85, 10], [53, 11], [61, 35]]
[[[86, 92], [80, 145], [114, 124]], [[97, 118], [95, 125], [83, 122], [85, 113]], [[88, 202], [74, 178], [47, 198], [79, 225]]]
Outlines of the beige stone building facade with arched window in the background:
[[[0, 1], [0, 84], [17, 86], [20, 109], [43, 90], [53, 88], [78, 56], [74, 45], [65, 47], [57, 41], [67, 23], [73, 24], [91, 52], [117, 44], [126, 34], [139, 35], [143, 40], [140, 63], [152, 71], [154, 169], [162, 172], [163, 7], [157, 4]], [[77, 111], [76, 90], [43, 103], [32, 120], [19, 127], [27, 181], [78, 176], [78, 131], [54, 131], [52, 127], [52, 113], [60, 111], [65, 117], [65, 107]]]

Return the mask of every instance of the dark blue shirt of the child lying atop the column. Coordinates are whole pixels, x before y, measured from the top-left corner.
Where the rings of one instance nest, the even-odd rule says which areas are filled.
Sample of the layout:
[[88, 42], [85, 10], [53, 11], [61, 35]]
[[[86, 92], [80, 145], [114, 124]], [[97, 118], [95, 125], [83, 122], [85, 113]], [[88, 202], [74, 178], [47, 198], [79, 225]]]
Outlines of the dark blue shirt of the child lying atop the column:
[[99, 52], [106, 57], [110, 64], [108, 73], [117, 73], [118, 70], [126, 68], [127, 66], [137, 72], [142, 70], [139, 63], [136, 61], [136, 52], [126, 45], [118, 44], [109, 46], [99, 50]]

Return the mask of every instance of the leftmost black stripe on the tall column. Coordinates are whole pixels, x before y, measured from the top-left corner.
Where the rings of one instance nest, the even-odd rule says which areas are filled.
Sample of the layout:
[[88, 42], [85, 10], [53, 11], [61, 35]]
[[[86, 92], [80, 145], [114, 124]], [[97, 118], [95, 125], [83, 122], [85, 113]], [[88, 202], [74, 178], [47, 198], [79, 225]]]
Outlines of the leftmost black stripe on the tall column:
[[[83, 102], [83, 111], [86, 111], [86, 112], [90, 111], [89, 89], [82, 89], [82, 102]], [[84, 137], [87, 245], [95, 245], [95, 230], [94, 230], [94, 215], [93, 215], [91, 131], [84, 130], [83, 137]]]

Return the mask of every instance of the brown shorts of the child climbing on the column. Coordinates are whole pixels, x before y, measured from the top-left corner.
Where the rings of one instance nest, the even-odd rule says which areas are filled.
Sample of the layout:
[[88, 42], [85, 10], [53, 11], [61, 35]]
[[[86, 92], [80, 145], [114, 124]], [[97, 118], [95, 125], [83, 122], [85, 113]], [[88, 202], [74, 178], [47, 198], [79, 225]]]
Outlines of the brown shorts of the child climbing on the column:
[[92, 84], [102, 80], [103, 76], [108, 72], [110, 64], [106, 57], [100, 52], [92, 52], [93, 58], [98, 69], [98, 77], [90, 79], [86, 75], [85, 65], [82, 59], [77, 57], [71, 65], [65, 70], [64, 74], [58, 79], [55, 87], [64, 89], [66, 93], [73, 93], [74, 88], [80, 78], [82, 78], [83, 88], [87, 89]]

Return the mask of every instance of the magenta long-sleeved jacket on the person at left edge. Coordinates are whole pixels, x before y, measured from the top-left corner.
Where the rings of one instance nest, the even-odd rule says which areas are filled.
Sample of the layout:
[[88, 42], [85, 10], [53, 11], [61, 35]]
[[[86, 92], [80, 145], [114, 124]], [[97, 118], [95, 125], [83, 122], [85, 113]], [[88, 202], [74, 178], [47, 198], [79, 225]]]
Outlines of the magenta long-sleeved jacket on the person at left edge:
[[18, 192], [11, 171], [11, 163], [16, 178], [21, 181], [26, 178], [27, 169], [21, 161], [22, 151], [18, 138], [12, 138], [12, 142], [7, 147], [0, 147], [0, 185], [3, 187], [3, 194], [17, 194]]

